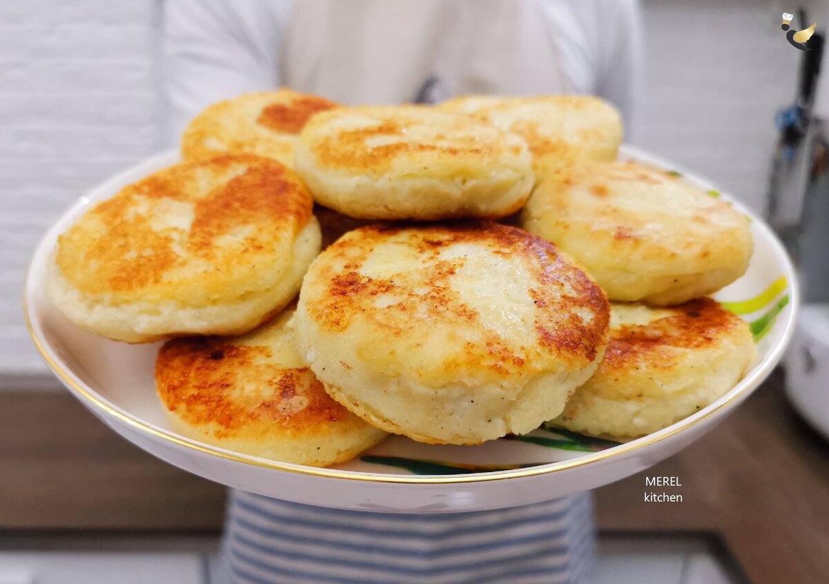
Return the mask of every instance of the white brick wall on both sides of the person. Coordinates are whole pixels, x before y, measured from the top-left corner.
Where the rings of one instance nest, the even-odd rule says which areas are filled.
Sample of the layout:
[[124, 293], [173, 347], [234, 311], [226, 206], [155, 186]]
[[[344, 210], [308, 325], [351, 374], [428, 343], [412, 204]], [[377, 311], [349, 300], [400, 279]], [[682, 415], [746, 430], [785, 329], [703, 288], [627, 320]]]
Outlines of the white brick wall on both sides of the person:
[[[70, 201], [160, 147], [160, 2], [0, 1], [0, 388], [45, 373], [20, 313], [33, 244]], [[642, 2], [634, 141], [762, 208], [773, 114], [793, 99], [799, 56], [778, 17], [795, 7]]]

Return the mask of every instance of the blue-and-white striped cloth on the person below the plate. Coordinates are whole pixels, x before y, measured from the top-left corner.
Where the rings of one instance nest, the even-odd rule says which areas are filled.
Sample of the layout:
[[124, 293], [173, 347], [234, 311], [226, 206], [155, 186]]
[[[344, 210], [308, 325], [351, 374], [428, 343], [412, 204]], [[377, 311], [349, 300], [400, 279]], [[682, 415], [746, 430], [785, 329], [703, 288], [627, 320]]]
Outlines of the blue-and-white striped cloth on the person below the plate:
[[400, 515], [232, 491], [222, 557], [234, 584], [580, 584], [593, 539], [590, 495]]

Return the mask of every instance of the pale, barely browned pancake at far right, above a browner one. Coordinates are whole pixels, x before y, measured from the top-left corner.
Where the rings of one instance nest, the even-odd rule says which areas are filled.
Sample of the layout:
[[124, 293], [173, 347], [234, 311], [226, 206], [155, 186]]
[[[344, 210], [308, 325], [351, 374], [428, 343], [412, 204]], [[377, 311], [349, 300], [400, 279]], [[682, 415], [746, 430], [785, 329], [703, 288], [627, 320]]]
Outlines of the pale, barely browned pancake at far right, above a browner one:
[[657, 306], [734, 282], [754, 250], [739, 212], [633, 162], [578, 162], [551, 174], [521, 224], [583, 263], [611, 300]]

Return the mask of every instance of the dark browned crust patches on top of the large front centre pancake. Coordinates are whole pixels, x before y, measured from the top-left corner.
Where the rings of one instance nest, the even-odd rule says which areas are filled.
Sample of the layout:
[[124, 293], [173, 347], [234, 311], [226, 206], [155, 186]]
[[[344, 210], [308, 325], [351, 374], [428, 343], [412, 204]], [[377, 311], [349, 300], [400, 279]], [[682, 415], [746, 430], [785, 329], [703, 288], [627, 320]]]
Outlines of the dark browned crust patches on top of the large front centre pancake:
[[[417, 274], [416, 282], [418, 288], [427, 292], [415, 291], [395, 278], [373, 279], [360, 273], [372, 246], [395, 234], [404, 234], [405, 243], [423, 256], [423, 271]], [[353, 239], [359, 239], [360, 244], [352, 244]], [[464, 304], [452, 289], [448, 278], [465, 260], [438, 258], [442, 249], [459, 243], [482, 244], [491, 253], [520, 258], [531, 272], [536, 282], [530, 291], [536, 306], [535, 348], [516, 347], [511, 339], [503, 339], [497, 332], [482, 327], [478, 311]], [[413, 318], [468, 323], [480, 330], [482, 343], [461, 345], [455, 358], [457, 362], [444, 363], [444, 369], [474, 365], [507, 377], [520, 371], [534, 350], [586, 365], [596, 359], [606, 340], [609, 305], [604, 292], [553, 244], [522, 229], [487, 222], [417, 228], [378, 224], [356, 229], [324, 254], [331, 263], [344, 269], [334, 272], [327, 268], [314, 283], [326, 289], [314, 295], [318, 302], [310, 302], [308, 311], [323, 330], [343, 331], [358, 316], [373, 319], [374, 326], [392, 336], [407, 334]], [[565, 288], [573, 292], [565, 294]], [[376, 311], [373, 299], [386, 293], [392, 294], [397, 302]], [[589, 311], [593, 321], [585, 322], [578, 314], [579, 309]], [[424, 311], [426, 316], [419, 316]], [[462, 341], [448, 339], [447, 342]]]

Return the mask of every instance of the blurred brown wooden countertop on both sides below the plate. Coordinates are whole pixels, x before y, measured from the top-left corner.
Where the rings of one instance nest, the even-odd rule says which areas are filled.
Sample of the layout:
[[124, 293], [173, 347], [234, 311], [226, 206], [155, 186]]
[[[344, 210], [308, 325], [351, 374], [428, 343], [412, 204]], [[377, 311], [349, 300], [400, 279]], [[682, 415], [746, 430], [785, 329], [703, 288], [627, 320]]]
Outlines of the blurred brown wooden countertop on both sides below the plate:
[[[0, 534], [218, 533], [225, 490], [138, 450], [68, 393], [0, 393]], [[677, 476], [648, 487], [645, 476]], [[682, 495], [645, 503], [645, 491]], [[829, 582], [829, 443], [779, 373], [699, 442], [596, 491], [599, 529], [715, 533], [757, 584]]]

